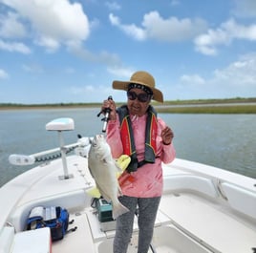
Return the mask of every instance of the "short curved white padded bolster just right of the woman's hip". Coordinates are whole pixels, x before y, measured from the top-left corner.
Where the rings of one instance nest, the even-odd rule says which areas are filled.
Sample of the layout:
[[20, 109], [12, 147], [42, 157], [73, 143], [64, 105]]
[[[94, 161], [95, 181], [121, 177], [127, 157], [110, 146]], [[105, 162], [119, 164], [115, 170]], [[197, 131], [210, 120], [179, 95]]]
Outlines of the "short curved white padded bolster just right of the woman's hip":
[[211, 198], [219, 196], [211, 179], [193, 175], [172, 175], [164, 178], [163, 192], [195, 191]]

